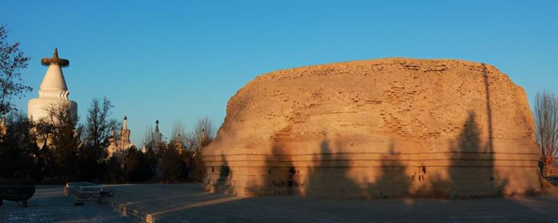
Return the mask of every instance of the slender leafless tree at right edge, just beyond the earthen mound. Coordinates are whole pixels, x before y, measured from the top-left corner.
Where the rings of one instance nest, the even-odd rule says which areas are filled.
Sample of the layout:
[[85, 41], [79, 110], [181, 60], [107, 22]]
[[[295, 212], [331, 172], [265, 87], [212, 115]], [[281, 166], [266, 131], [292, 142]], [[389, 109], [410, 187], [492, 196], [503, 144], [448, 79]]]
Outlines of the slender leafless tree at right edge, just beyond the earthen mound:
[[558, 97], [554, 93], [543, 91], [536, 94], [535, 125], [546, 175], [558, 153]]

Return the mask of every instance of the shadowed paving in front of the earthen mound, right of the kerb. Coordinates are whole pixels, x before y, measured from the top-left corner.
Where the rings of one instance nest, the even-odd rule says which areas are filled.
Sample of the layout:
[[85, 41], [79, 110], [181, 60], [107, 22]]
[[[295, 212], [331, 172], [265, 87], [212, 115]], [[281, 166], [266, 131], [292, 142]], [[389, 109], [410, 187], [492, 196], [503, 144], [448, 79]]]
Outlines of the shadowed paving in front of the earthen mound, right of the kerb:
[[199, 184], [112, 185], [108, 203], [146, 222], [552, 222], [558, 197], [318, 200], [229, 197]]

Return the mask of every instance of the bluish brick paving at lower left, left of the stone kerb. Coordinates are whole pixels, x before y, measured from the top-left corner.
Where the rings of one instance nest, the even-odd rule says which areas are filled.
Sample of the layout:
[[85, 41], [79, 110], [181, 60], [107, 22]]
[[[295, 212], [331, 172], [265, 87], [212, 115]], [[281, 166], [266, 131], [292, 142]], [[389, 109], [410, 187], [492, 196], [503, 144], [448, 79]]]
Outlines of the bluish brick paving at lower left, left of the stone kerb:
[[86, 202], [85, 206], [73, 206], [73, 199], [63, 195], [61, 186], [38, 186], [29, 207], [21, 203], [4, 201], [0, 222], [137, 222], [105, 206]]

